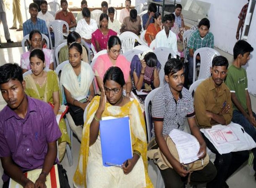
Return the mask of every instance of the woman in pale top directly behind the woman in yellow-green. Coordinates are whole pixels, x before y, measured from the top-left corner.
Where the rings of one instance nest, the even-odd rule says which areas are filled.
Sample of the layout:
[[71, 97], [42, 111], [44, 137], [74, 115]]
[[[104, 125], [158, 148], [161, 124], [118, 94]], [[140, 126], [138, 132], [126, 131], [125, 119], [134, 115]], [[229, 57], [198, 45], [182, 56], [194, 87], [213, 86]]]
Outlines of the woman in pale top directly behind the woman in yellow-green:
[[25, 73], [26, 71], [30, 70], [30, 52], [35, 48], [39, 48], [43, 50], [45, 56], [45, 66], [48, 69], [54, 69], [53, 67], [53, 50], [43, 48], [42, 46], [42, 34], [38, 30], [33, 30], [30, 32], [29, 36], [30, 42], [30, 51], [21, 54], [21, 69], [22, 72]]

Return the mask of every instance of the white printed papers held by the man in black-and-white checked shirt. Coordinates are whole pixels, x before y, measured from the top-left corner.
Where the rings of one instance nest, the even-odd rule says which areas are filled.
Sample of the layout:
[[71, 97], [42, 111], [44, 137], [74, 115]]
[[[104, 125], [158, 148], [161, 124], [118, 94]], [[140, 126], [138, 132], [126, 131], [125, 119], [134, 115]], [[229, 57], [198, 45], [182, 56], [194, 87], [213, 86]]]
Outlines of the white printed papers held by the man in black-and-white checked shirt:
[[197, 154], [200, 145], [196, 137], [178, 129], [173, 129], [169, 136], [175, 143], [180, 163], [188, 164], [199, 159]]

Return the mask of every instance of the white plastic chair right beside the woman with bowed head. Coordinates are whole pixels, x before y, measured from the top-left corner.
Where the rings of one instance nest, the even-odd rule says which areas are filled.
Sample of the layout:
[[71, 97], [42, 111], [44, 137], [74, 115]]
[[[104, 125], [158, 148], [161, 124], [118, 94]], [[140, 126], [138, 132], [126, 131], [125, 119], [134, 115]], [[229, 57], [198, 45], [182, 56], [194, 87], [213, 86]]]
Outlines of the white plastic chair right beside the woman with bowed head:
[[160, 86], [163, 86], [166, 81], [164, 79], [164, 66], [166, 64], [166, 61], [168, 60], [168, 56], [170, 54], [170, 49], [167, 47], [159, 47], [153, 50], [156, 54], [158, 61], [161, 64], [161, 69], [159, 72], [159, 80], [160, 80]]

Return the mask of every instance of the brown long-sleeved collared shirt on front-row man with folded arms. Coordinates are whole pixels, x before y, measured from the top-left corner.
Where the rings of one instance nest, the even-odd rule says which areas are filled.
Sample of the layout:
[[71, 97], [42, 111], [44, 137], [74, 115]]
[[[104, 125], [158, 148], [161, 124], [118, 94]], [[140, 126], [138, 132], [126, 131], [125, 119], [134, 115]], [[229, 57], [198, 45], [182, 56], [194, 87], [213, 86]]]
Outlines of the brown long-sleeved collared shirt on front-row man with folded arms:
[[[196, 111], [196, 120], [200, 127], [212, 127], [211, 118], [205, 115], [206, 111], [219, 114], [223, 107], [230, 105], [229, 112], [222, 114], [226, 125], [232, 119], [232, 102], [230, 90], [223, 82], [218, 90], [214, 84], [213, 78], [207, 78], [196, 88], [194, 94], [194, 106]], [[218, 124], [218, 123], [217, 123]]]

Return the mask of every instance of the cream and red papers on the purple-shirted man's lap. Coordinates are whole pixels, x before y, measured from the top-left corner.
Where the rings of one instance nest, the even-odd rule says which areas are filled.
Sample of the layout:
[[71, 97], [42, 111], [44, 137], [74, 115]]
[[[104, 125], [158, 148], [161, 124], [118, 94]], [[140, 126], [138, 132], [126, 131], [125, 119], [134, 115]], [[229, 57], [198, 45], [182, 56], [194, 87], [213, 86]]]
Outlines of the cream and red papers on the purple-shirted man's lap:
[[[28, 179], [30, 179], [35, 183], [35, 181], [38, 179], [41, 172], [42, 172], [42, 168], [34, 169], [24, 174]], [[45, 184], [47, 188], [60, 188], [60, 180], [59, 180], [57, 164], [52, 166], [51, 171], [46, 177]], [[23, 188], [23, 187], [20, 184], [18, 184], [16, 181], [10, 178], [9, 188]]]

